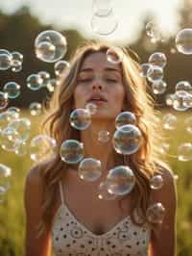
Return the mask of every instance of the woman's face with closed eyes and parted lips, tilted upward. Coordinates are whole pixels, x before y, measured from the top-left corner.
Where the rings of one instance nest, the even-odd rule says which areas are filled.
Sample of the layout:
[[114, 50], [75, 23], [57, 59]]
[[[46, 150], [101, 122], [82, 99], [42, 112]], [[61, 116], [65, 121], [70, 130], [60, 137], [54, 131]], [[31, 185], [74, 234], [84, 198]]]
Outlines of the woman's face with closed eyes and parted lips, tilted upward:
[[108, 62], [106, 53], [89, 54], [78, 74], [74, 90], [75, 109], [84, 109], [87, 103], [97, 106], [92, 118], [115, 118], [125, 101], [120, 64]]

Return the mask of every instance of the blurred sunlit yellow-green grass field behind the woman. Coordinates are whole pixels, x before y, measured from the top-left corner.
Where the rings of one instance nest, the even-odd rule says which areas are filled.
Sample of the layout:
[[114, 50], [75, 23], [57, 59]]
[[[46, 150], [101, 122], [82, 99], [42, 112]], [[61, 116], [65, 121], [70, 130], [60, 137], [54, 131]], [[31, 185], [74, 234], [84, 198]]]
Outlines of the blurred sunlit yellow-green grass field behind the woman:
[[[165, 113], [163, 113], [164, 115]], [[192, 135], [184, 130], [183, 121], [190, 113], [174, 113], [178, 116], [178, 128], [167, 133], [170, 154], [177, 153], [180, 142], [190, 142]], [[24, 113], [24, 116], [28, 114]], [[31, 138], [38, 133], [40, 117], [31, 116], [33, 129]], [[178, 185], [178, 256], [191, 256], [192, 248], [192, 170], [191, 161], [180, 162], [168, 157], [168, 163], [179, 175]], [[29, 154], [24, 157], [0, 149], [0, 163], [12, 168], [12, 189], [7, 193], [4, 203], [0, 204], [0, 256], [22, 256], [24, 254], [24, 208], [23, 189], [28, 169], [34, 164]], [[37, 255], [36, 255], [37, 256]]]

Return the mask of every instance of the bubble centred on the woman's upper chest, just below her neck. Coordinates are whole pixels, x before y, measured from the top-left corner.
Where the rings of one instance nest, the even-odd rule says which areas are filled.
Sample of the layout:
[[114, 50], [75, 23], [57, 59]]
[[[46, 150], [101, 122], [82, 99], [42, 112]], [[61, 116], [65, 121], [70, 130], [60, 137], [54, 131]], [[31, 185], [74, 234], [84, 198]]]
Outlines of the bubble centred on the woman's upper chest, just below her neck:
[[78, 168], [78, 174], [85, 181], [96, 181], [102, 174], [101, 161], [93, 158], [84, 158]]

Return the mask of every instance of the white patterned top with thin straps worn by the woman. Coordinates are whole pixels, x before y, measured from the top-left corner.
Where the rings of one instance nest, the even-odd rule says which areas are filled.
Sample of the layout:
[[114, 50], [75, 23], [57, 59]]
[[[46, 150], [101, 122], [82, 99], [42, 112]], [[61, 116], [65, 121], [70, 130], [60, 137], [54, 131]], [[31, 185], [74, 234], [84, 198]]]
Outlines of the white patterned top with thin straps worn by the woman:
[[107, 233], [89, 231], [64, 203], [60, 183], [61, 205], [52, 222], [52, 244], [56, 256], [147, 256], [151, 230], [123, 218]]

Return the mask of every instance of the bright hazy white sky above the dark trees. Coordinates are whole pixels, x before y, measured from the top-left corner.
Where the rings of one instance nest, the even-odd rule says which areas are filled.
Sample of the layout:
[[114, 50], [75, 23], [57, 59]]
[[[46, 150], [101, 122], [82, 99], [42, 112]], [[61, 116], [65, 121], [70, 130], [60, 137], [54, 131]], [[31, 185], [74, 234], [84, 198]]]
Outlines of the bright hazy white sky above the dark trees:
[[[90, 26], [93, 0], [4, 0], [0, 9], [12, 13], [22, 5], [29, 5], [32, 13], [44, 23], [60, 29], [76, 28], [85, 37], [97, 37]], [[117, 43], [132, 41], [140, 31], [146, 13], [154, 13], [167, 35], [178, 31], [177, 10], [182, 0], [113, 0], [113, 13], [118, 20], [117, 29], [107, 38]]]

